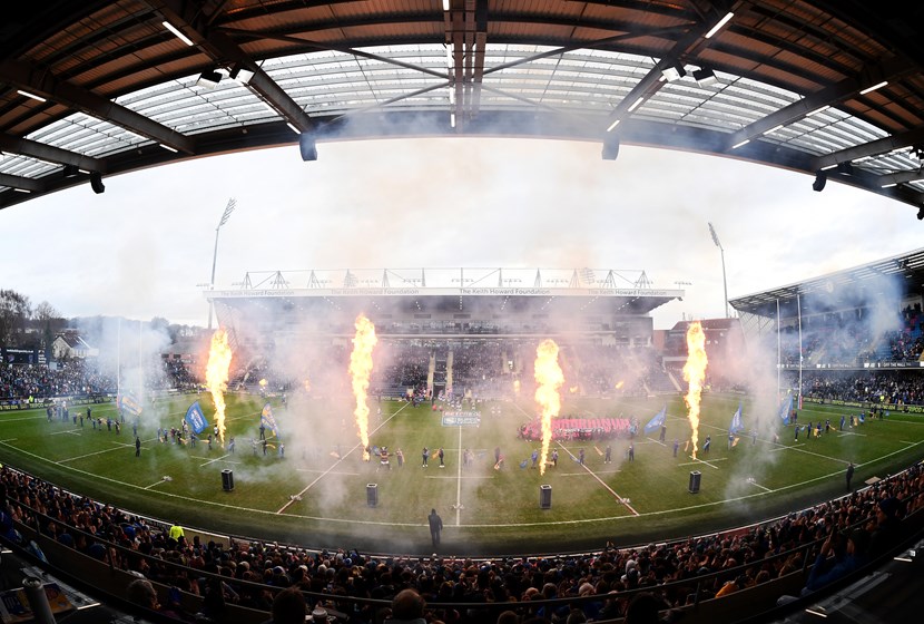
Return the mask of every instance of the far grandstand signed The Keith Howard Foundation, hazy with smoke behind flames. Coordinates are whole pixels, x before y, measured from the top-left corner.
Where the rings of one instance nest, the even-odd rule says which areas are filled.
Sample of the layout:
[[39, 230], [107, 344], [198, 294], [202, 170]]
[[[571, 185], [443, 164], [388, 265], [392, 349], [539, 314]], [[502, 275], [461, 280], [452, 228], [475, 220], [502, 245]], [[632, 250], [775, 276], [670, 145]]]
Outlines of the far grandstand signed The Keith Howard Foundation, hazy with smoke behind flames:
[[[397, 345], [407, 362], [386, 364], [404, 369], [380, 376], [374, 392], [404, 396], [420, 388], [427, 397], [489, 397], [512, 388], [543, 338], [569, 344], [568, 365], [582, 380], [582, 394], [609, 394], [623, 374], [613, 378], [613, 370], [637, 369], [646, 374], [633, 376], [626, 390], [647, 392], [648, 369], [660, 371], [651, 355], [650, 312], [684, 291], [656, 289], [639, 270], [460, 267], [248, 273], [237, 290], [205, 294], [250, 367], [293, 361], [294, 344], [343, 348], [364, 313], [383, 348]], [[603, 374], [598, 362], [606, 360], [610, 372]]]

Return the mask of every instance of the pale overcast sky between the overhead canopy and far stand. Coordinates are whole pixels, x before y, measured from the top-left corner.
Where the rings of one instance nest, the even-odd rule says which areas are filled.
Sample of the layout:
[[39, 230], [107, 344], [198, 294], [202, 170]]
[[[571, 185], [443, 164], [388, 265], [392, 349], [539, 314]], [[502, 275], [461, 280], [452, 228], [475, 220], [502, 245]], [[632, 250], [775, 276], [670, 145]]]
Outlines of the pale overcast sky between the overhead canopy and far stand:
[[538, 139], [442, 138], [297, 146], [106, 177], [0, 211], [0, 287], [65, 316], [205, 325], [197, 284], [248, 271], [509, 267], [645, 270], [687, 291], [656, 329], [724, 315], [728, 295], [921, 246], [916, 211], [878, 195], [728, 158]]

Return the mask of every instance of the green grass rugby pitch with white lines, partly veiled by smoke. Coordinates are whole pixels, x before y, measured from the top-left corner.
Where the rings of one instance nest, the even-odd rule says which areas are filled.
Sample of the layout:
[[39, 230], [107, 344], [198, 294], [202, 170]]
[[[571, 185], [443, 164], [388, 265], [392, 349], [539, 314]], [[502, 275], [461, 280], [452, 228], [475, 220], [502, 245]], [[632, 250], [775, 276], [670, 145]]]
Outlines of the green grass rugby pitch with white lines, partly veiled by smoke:
[[[534, 416], [529, 398], [483, 402], [480, 427], [443, 427], [429, 403], [416, 408], [397, 400], [371, 400], [370, 442], [391, 451], [390, 468], [377, 457], [362, 459], [352, 406], [324, 398], [293, 397], [287, 406], [272, 399], [279, 439], [269, 436], [266, 455], [258, 438], [264, 400], [227, 396], [226, 439], [209, 450], [201, 433], [195, 448], [157, 441], [158, 428], [177, 427], [186, 408], [199, 400], [214, 420], [207, 394], [159, 399], [139, 419], [141, 456], [135, 457], [132, 421], [120, 433], [88, 421], [48, 422], [43, 410], [0, 415], [0, 460], [72, 491], [134, 513], [234, 535], [294, 542], [308, 547], [356, 547], [367, 552], [429, 554], [426, 516], [443, 518], [442, 554], [500, 555], [601, 548], [662, 540], [739, 526], [846, 491], [845, 470], [856, 466], [854, 487], [885, 477], [922, 458], [924, 418], [891, 413], [839, 431], [841, 416], [858, 408], [806, 404], [799, 423], [829, 419], [819, 438], [784, 426], [773, 408], [749, 398], [707, 394], [699, 425], [697, 459], [684, 452], [691, 427], [681, 397], [613, 400], [566, 397], [562, 416], [629, 418], [641, 428], [667, 406], [666, 443], [658, 432], [628, 439], [552, 442], [556, 467], [544, 475], [530, 456], [539, 442], [521, 440], [520, 425]], [[744, 423], [729, 448], [728, 427], [739, 401]], [[90, 406], [94, 417], [115, 418], [111, 403]], [[71, 409], [71, 415], [86, 406]], [[751, 431], [757, 431], [756, 438]], [[701, 449], [711, 437], [708, 454]], [[778, 440], [775, 440], [778, 436]], [[674, 457], [674, 440], [680, 451]], [[279, 441], [285, 443], [284, 456]], [[607, 443], [612, 461], [604, 464]], [[429, 467], [421, 450], [431, 449]], [[444, 450], [439, 467], [436, 449]], [[494, 468], [500, 447], [503, 466]], [[404, 454], [399, 467], [394, 456]], [[474, 455], [462, 466], [462, 454]], [[584, 450], [584, 465], [577, 461]], [[527, 467], [520, 465], [525, 460]], [[222, 471], [232, 470], [225, 491]], [[691, 471], [700, 490], [688, 490]], [[367, 505], [374, 484], [375, 506]], [[551, 487], [551, 508], [540, 508], [540, 487]]]

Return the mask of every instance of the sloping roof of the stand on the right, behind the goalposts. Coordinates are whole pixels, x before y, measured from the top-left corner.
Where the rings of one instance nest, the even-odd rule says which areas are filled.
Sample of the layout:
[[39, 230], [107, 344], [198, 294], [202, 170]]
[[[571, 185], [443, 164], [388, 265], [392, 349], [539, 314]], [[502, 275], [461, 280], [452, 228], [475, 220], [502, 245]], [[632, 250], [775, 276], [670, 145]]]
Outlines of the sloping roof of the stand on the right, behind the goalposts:
[[786, 303], [793, 312], [795, 306], [792, 302], [796, 296], [817, 295], [813, 298], [816, 309], [818, 301], [823, 301], [823, 306], [830, 310], [859, 308], [882, 300], [883, 289], [894, 292], [896, 284], [901, 284], [901, 295], [922, 292], [924, 248], [739, 296], [728, 303], [740, 313], [775, 318], [777, 302]]

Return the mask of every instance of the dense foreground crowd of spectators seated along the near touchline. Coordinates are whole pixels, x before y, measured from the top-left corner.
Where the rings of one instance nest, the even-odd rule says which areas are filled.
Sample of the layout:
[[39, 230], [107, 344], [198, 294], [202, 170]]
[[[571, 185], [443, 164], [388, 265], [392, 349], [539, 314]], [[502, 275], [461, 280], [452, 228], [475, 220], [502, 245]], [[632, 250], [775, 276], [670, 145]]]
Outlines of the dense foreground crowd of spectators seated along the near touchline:
[[[608, 544], [584, 555], [493, 559], [187, 542], [169, 524], [69, 494], [8, 466], [0, 468], [0, 534], [8, 539], [21, 539], [14, 521], [22, 523], [114, 567], [203, 596], [201, 615], [216, 621], [227, 604], [269, 612], [278, 591], [294, 587], [306, 593], [308, 608], [354, 623], [381, 622], [385, 612], [381, 603], [350, 598], [391, 601], [403, 589], [425, 599], [426, 622], [504, 621], [503, 615], [485, 620], [491, 603], [507, 605], [521, 621], [570, 622], [623, 616], [635, 589], [649, 592], [658, 610], [721, 597], [798, 572], [806, 557], [815, 567], [804, 592], [813, 592], [902, 539], [905, 518], [924, 507], [924, 471], [915, 465], [843, 498], [727, 534], [631, 548]], [[587, 599], [533, 604], [572, 597]], [[568, 620], [572, 615], [578, 620]]]

